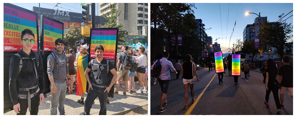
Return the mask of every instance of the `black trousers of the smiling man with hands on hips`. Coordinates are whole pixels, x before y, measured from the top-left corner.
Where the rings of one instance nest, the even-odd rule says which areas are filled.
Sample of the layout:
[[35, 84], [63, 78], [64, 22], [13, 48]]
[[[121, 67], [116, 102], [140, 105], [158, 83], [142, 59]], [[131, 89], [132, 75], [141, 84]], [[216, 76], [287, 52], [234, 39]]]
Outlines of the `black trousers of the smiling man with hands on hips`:
[[94, 103], [94, 100], [99, 97], [100, 101], [100, 112], [99, 115], [106, 115], [107, 114], [107, 97], [108, 93], [105, 91], [105, 88], [99, 88], [96, 86], [92, 86], [93, 90], [89, 90], [86, 96], [86, 100], [84, 102], [84, 114], [89, 115], [91, 111], [91, 105]]

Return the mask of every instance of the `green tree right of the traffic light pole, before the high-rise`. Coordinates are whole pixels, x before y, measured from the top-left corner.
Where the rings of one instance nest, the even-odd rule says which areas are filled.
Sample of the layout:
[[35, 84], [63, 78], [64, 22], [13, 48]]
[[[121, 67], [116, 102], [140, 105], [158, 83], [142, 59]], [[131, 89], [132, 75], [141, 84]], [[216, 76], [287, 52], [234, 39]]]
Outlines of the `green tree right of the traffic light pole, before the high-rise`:
[[128, 35], [128, 34], [126, 33], [125, 30], [123, 30], [123, 24], [122, 23], [117, 25], [117, 20], [118, 20], [117, 18], [120, 15], [121, 10], [117, 11], [115, 4], [111, 4], [111, 5], [109, 5], [109, 7], [111, 9], [111, 12], [107, 12], [107, 14], [103, 14], [104, 18], [106, 20], [108, 20], [108, 22], [105, 22], [103, 28], [118, 27], [119, 28], [118, 42], [125, 43], [125, 41], [121, 40], [120, 38], [121, 37], [126, 37], [126, 35]]

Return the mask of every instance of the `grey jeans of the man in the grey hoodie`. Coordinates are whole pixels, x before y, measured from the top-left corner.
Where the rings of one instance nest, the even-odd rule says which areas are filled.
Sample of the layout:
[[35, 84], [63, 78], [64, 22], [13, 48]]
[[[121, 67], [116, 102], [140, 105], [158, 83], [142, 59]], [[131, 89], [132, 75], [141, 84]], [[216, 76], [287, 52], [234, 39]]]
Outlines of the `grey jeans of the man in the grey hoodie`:
[[[59, 114], [65, 115], [64, 102], [66, 98], [67, 83], [54, 83], [57, 87], [57, 93], [52, 93], [52, 99], [50, 101], [50, 115], [57, 115], [57, 106], [59, 105]], [[50, 84], [50, 91], [52, 87]]]

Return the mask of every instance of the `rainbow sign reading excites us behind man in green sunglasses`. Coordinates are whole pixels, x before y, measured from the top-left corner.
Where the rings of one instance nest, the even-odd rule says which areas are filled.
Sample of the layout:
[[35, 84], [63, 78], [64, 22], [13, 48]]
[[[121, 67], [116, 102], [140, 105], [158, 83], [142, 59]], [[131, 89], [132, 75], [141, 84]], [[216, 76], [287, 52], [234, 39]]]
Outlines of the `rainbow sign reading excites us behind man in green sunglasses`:
[[35, 35], [33, 51], [38, 51], [38, 29], [37, 16], [17, 7], [4, 4], [4, 51], [20, 51], [23, 47], [20, 40], [22, 31], [30, 29]]

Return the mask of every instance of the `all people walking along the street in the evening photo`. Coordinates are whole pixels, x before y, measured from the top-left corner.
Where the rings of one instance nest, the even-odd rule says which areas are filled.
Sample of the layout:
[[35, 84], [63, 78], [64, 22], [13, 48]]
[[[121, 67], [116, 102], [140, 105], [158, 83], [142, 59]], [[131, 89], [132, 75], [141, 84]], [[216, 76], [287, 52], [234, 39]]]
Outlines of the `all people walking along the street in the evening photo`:
[[[209, 71], [215, 70], [215, 63], [202, 63], [200, 62], [199, 68], [195, 66], [195, 64], [191, 61], [191, 55], [187, 54], [185, 56], [184, 63], [180, 63], [180, 60], [176, 61], [176, 64], [173, 65], [169, 60], [169, 53], [163, 52], [163, 58], [153, 61], [151, 65], [152, 77], [154, 78], [154, 83], [157, 81], [161, 88], [161, 100], [160, 100], [160, 109], [159, 113], [162, 113], [166, 110], [164, 106], [167, 105], [167, 92], [168, 86], [170, 83], [170, 72], [176, 73], [176, 79], [179, 79], [180, 71], [182, 73], [183, 84], [184, 84], [184, 100], [185, 105], [184, 109], [188, 108], [188, 92], [190, 87], [190, 94], [192, 103], [194, 103], [194, 81], [199, 82], [199, 78], [196, 70], [200, 68], [208, 67]], [[161, 65], [161, 66], [159, 66]], [[224, 61], [224, 72], [217, 73], [219, 84], [223, 83], [223, 73], [225, 70], [229, 70], [229, 76], [232, 76], [232, 63], [231, 61]], [[159, 70], [159, 71], [157, 71]], [[245, 60], [241, 65], [241, 70], [244, 72], [244, 78], [250, 77], [250, 62]], [[276, 108], [278, 112], [276, 114], [281, 114], [281, 109], [284, 108], [284, 93], [288, 91], [288, 94], [293, 99], [293, 66], [289, 65], [289, 57], [284, 56], [282, 62], [274, 61], [273, 59], [268, 59], [263, 64], [263, 67], [260, 68], [260, 71], [263, 74], [263, 83], [265, 84], [266, 95], [264, 104], [269, 107], [269, 95], [273, 92], [274, 100], [276, 103]], [[196, 80], [195, 80], [196, 79]], [[235, 85], [238, 84], [238, 76], [234, 76]], [[279, 89], [280, 89], [280, 97], [279, 97]]]

